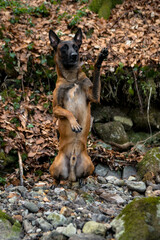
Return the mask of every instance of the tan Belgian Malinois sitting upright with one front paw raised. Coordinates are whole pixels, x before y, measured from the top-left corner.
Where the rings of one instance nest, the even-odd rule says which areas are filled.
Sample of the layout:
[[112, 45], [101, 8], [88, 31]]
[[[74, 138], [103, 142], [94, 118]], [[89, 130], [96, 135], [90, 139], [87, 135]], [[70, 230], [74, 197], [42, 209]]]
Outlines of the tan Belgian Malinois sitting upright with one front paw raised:
[[91, 175], [94, 166], [87, 154], [87, 136], [90, 130], [90, 103], [100, 101], [100, 68], [108, 50], [101, 50], [94, 66], [93, 83], [81, 69], [79, 48], [82, 31], [78, 29], [70, 41], [61, 41], [49, 31], [51, 46], [55, 50], [57, 71], [53, 91], [53, 113], [58, 118], [60, 133], [59, 152], [50, 167], [55, 179], [76, 181]]

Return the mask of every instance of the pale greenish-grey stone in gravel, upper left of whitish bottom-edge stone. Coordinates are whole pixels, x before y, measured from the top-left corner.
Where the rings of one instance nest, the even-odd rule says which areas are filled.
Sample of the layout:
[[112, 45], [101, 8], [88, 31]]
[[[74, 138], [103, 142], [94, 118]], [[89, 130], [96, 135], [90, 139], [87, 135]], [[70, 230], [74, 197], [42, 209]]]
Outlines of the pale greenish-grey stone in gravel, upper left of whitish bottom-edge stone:
[[66, 217], [64, 217], [62, 214], [59, 214], [57, 212], [50, 213], [47, 216], [47, 220], [52, 223], [54, 228], [64, 225], [67, 222]]

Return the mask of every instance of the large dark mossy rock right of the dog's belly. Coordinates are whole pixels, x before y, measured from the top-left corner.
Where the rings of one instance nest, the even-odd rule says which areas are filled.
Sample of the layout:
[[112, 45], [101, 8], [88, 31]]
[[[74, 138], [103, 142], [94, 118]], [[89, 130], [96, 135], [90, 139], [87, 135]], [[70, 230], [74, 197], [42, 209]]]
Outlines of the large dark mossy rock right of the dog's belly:
[[120, 122], [95, 123], [94, 129], [106, 143], [115, 142], [123, 144], [128, 142], [128, 136]]

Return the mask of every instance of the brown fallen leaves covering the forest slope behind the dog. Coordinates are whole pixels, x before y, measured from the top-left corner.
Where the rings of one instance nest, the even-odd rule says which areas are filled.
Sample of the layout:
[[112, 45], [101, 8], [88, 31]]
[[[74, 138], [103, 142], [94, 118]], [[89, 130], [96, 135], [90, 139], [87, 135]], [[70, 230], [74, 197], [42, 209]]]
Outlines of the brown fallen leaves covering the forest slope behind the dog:
[[[38, 6], [43, 1], [24, 1], [32, 6]], [[5, 26], [3, 35], [11, 39], [11, 50], [15, 52], [19, 61], [19, 79], [27, 71], [27, 62], [30, 56], [33, 63], [40, 63], [40, 56], [47, 55], [51, 52], [48, 38], [49, 29], [53, 29], [59, 33], [61, 39], [67, 39], [72, 35], [74, 27], [69, 24], [73, 16], [79, 9], [87, 7], [86, 4], [81, 5], [75, 1], [61, 1], [61, 4], [54, 5], [49, 1], [46, 2], [49, 9], [48, 17], [37, 17], [22, 14], [18, 23], [10, 22], [13, 17], [13, 11], [10, 7], [1, 10], [1, 23]], [[112, 14], [108, 20], [99, 19], [97, 14], [85, 8], [86, 14], [81, 17], [81, 21], [77, 26], [83, 31], [83, 45], [80, 50], [82, 60], [86, 67], [92, 65], [95, 57], [103, 47], [109, 48], [109, 56], [103, 64], [102, 73], [116, 68], [119, 63], [124, 66], [134, 67], [138, 65], [158, 64], [160, 62], [160, 18], [159, 18], [160, 2], [158, 0], [146, 1], [124, 1], [123, 4], [117, 5], [112, 10]], [[71, 18], [61, 17], [70, 13]], [[32, 25], [28, 19], [32, 18]], [[27, 35], [26, 30], [30, 30], [31, 34]], [[92, 32], [89, 36], [89, 32]], [[0, 39], [0, 48], [5, 44], [4, 39]], [[33, 48], [29, 49], [32, 44]], [[3, 57], [3, 49], [0, 50], [0, 57]], [[88, 67], [89, 68], [89, 67]], [[51, 69], [54, 68], [51, 67]], [[90, 73], [90, 71], [89, 71]], [[24, 95], [23, 91], [17, 91], [17, 96]], [[19, 108], [15, 109], [12, 99], [3, 102], [0, 101], [0, 128], [4, 131], [0, 132], [5, 142], [3, 150], [9, 154], [11, 150], [17, 150], [27, 154], [24, 163], [26, 170], [26, 179], [32, 177], [35, 170], [42, 170], [41, 176], [34, 175], [34, 180], [46, 180], [52, 182], [49, 178], [48, 168], [49, 161], [56, 156], [58, 149], [57, 124], [56, 119], [44, 107], [47, 102], [52, 102], [52, 96], [39, 94], [38, 103], [31, 101], [31, 90], [25, 89], [25, 97], [20, 102]], [[15, 136], [11, 136], [11, 132]], [[134, 164], [140, 161], [143, 156], [134, 151], [119, 153], [114, 150], [106, 150], [103, 147], [95, 148], [97, 139], [92, 135], [89, 136], [88, 151], [93, 162], [107, 163], [111, 169], [123, 167], [126, 164]], [[44, 159], [44, 161], [41, 161]], [[47, 161], [45, 161], [47, 159]], [[52, 159], [52, 160], [53, 160]], [[30, 171], [29, 171], [30, 170]], [[8, 175], [10, 182], [19, 184], [18, 169]]]

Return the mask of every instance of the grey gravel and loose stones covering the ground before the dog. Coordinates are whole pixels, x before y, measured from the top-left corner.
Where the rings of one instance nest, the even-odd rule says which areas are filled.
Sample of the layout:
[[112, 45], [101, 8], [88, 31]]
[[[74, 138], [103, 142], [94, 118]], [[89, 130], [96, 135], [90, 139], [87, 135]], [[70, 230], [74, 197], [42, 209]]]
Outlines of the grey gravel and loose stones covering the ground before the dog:
[[113, 240], [110, 223], [125, 205], [137, 196], [160, 194], [159, 183], [147, 185], [132, 166], [115, 172], [98, 164], [95, 176], [81, 182], [9, 185], [0, 191], [0, 208], [22, 223], [20, 237], [10, 240]]

